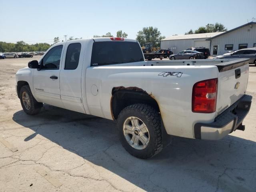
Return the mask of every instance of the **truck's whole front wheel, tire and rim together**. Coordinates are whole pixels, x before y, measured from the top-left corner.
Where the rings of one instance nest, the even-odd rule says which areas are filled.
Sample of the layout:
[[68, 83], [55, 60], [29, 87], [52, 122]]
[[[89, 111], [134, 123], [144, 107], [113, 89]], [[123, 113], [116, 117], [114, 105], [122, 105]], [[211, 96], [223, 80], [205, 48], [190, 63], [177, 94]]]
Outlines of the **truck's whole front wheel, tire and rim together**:
[[36, 101], [28, 85], [20, 88], [20, 103], [28, 115], [38, 114], [43, 106], [42, 103]]

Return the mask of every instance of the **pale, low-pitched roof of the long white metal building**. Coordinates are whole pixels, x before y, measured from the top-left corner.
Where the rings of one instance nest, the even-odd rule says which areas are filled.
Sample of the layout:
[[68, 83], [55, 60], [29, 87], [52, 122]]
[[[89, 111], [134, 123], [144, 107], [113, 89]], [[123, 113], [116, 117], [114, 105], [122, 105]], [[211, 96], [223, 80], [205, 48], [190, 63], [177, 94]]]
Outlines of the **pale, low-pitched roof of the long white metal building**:
[[180, 39], [201, 39], [201, 38], [211, 38], [217, 35], [222, 34], [223, 32], [215, 33], [199, 33], [199, 34], [188, 34], [188, 35], [173, 35], [167, 38], [162, 39], [161, 41], [167, 40], [180, 40]]

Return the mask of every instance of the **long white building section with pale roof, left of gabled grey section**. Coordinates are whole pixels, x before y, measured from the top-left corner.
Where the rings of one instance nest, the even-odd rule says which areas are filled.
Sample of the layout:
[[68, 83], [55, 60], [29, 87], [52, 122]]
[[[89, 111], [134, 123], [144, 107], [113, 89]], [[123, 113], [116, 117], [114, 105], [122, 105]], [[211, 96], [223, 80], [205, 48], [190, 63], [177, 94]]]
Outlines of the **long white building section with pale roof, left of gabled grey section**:
[[170, 36], [161, 40], [161, 49], [172, 49], [174, 54], [190, 47], [202, 46], [210, 49], [210, 40], [206, 41], [206, 39], [222, 33], [223, 32]]

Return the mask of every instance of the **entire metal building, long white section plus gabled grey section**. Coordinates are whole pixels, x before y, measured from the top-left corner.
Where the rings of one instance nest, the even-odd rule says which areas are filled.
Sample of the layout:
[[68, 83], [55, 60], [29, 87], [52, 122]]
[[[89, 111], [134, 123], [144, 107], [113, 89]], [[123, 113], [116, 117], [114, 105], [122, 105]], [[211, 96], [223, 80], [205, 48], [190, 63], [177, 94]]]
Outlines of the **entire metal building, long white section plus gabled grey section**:
[[256, 47], [256, 22], [246, 23], [227, 32], [174, 35], [161, 40], [161, 49], [172, 49], [174, 54], [199, 46], [209, 48], [211, 56]]

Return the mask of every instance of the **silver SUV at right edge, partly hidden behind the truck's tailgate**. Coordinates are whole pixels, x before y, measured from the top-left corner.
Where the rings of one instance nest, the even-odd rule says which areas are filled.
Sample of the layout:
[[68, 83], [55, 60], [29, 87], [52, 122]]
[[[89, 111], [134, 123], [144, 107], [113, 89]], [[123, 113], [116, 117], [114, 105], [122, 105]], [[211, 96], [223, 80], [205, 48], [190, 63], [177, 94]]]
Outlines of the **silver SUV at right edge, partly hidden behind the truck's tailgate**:
[[256, 48], [240, 49], [232, 53], [225, 53], [223, 55], [214, 57], [214, 59], [232, 59], [232, 58], [250, 59], [249, 64], [256, 65]]

